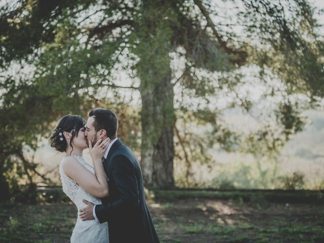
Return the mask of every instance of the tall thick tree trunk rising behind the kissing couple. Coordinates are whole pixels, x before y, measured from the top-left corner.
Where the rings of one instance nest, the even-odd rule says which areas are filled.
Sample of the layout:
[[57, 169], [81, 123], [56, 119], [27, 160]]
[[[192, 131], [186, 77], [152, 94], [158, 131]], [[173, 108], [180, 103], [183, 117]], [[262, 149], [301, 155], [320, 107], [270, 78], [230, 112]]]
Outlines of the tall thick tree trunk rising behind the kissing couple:
[[140, 58], [136, 68], [142, 97], [141, 167], [146, 186], [170, 188], [174, 186], [175, 112], [170, 67], [173, 31], [166, 19], [171, 10], [156, 0], [143, 1], [143, 9], [137, 32], [139, 45], [134, 49]]

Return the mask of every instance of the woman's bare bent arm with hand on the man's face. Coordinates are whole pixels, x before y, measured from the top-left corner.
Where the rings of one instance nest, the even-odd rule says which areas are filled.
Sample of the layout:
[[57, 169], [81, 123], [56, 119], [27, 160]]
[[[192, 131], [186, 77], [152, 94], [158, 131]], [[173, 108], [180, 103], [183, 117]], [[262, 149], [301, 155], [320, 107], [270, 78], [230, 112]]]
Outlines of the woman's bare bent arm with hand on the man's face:
[[90, 154], [93, 160], [95, 175], [86, 169], [76, 158], [68, 156], [62, 161], [62, 169], [66, 176], [74, 180], [79, 186], [96, 197], [107, 197], [109, 195], [106, 173], [101, 158], [108, 146], [109, 139], [101, 140], [92, 148], [89, 142]]

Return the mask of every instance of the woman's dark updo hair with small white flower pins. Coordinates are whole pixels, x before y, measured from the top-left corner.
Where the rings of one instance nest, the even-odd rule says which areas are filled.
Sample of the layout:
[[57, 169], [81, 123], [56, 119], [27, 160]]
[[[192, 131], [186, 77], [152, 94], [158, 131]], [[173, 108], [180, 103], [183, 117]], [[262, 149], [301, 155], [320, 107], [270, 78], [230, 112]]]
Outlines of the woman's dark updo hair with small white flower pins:
[[[72, 148], [72, 141], [74, 137], [77, 137], [80, 129], [86, 126], [86, 121], [79, 115], [65, 115], [57, 123], [55, 130], [53, 131], [49, 142], [51, 147], [55, 148], [59, 152], [64, 152], [67, 148], [67, 142], [65, 140], [63, 132], [69, 132], [72, 137], [69, 141], [69, 145]], [[72, 152], [71, 151], [71, 152]]]

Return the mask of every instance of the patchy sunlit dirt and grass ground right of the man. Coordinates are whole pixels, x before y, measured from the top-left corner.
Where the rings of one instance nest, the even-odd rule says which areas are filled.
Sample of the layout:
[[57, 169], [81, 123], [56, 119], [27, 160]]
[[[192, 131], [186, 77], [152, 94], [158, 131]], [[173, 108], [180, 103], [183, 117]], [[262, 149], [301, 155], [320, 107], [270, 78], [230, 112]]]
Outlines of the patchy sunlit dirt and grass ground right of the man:
[[324, 242], [319, 205], [183, 199], [150, 208], [164, 242]]

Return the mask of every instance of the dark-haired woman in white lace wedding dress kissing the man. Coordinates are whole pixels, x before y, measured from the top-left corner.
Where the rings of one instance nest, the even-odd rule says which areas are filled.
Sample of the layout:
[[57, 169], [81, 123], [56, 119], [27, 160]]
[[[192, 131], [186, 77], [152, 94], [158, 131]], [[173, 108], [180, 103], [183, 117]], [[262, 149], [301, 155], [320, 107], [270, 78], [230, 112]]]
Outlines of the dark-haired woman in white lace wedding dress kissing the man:
[[[78, 115], [63, 116], [52, 133], [49, 142], [57, 151], [65, 152], [60, 165], [60, 175], [64, 193], [73, 201], [77, 210], [85, 208], [83, 199], [101, 204], [99, 198], [109, 195], [102, 156], [109, 145], [109, 139], [99, 139], [92, 147], [85, 137], [84, 118]], [[82, 153], [88, 147], [93, 161], [91, 167]], [[95, 220], [82, 221], [77, 217], [71, 242], [108, 242], [108, 224]]]

